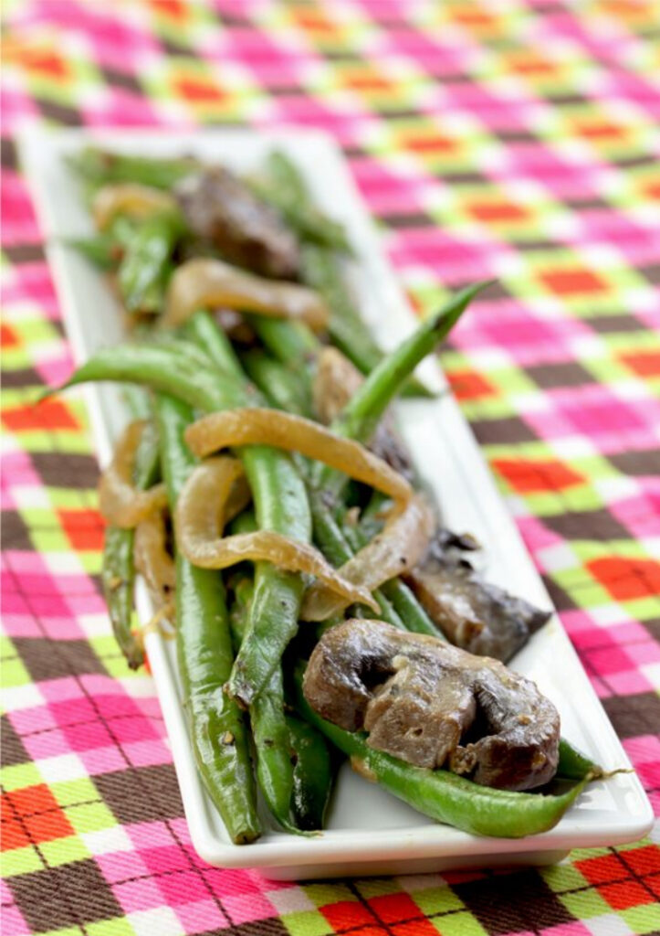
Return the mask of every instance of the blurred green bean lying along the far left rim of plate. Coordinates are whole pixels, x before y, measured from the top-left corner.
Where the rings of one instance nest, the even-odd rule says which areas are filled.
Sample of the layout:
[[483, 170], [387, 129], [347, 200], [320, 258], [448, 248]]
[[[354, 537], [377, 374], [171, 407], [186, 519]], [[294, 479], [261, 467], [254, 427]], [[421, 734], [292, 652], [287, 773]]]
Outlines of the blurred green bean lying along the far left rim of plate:
[[94, 186], [130, 182], [167, 190], [199, 167], [194, 159], [151, 159], [147, 156], [108, 153], [93, 147], [70, 156], [67, 162]]

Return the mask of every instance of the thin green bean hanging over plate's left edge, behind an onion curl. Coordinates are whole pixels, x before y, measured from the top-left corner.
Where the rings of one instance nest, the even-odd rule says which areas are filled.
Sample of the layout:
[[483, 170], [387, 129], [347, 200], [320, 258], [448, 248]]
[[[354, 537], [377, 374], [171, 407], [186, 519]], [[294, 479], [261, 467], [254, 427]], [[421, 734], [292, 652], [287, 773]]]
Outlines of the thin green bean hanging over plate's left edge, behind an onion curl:
[[[136, 452], [135, 485], [147, 490], [158, 478], [160, 465], [158, 436], [153, 424], [142, 435]], [[108, 605], [112, 632], [131, 669], [144, 663], [142, 644], [133, 633], [133, 592], [136, 579], [134, 561], [135, 530], [108, 526], [103, 547], [101, 582]]]

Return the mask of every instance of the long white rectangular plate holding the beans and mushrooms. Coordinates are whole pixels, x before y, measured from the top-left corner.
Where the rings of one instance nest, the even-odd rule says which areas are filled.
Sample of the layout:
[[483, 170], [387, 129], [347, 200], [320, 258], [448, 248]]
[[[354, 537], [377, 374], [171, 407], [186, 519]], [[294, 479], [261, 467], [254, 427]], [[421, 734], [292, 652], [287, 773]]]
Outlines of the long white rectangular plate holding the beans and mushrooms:
[[[22, 167], [36, 197], [65, 326], [78, 363], [122, 337], [120, 316], [108, 285], [63, 242], [92, 230], [79, 185], [65, 165], [66, 154], [92, 142], [134, 154], [195, 154], [240, 172], [258, 167], [270, 149], [280, 147], [304, 171], [323, 209], [350, 231], [356, 253], [350, 272], [352, 285], [376, 338], [384, 347], [391, 347], [413, 329], [414, 315], [381, 255], [375, 230], [343, 157], [329, 137], [298, 130], [280, 134], [242, 130], [181, 134], [32, 131], [21, 140]], [[438, 388], [444, 385], [435, 361], [425, 361], [421, 375]], [[84, 392], [103, 464], [126, 414], [117, 388], [94, 386]], [[399, 417], [417, 466], [435, 491], [448, 525], [469, 530], [481, 540], [488, 577], [539, 606], [550, 607], [548, 594], [452, 395], [402, 402]], [[144, 592], [138, 594], [138, 609], [145, 616], [150, 613]], [[150, 634], [147, 640], [194, 847], [210, 864], [260, 868], [269, 877], [280, 879], [545, 864], [574, 847], [635, 841], [651, 826], [651, 806], [634, 773], [593, 783], [552, 831], [523, 840], [504, 840], [477, 838], [433, 823], [345, 766], [323, 835], [298, 838], [269, 828], [265, 818], [268, 830], [262, 839], [252, 845], [233, 845], [194, 768], [172, 642], [157, 634]], [[606, 769], [630, 766], [556, 616], [518, 654], [514, 668], [535, 680], [560, 709], [562, 733], [567, 739]]]

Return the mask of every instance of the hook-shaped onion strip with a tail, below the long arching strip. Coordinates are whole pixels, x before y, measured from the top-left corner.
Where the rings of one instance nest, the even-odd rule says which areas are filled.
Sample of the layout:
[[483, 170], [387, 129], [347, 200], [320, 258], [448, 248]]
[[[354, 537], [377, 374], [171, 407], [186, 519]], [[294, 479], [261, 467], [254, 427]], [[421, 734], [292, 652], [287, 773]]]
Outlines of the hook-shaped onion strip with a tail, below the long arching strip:
[[[342, 578], [318, 549], [270, 530], [222, 536], [226, 505], [238, 469], [230, 458], [209, 459], [194, 469], [179, 494], [177, 545], [186, 559], [205, 569], [225, 569], [244, 561], [267, 562], [289, 572], [320, 579], [349, 605], [378, 605], [366, 589]], [[242, 469], [241, 469], [242, 470]]]

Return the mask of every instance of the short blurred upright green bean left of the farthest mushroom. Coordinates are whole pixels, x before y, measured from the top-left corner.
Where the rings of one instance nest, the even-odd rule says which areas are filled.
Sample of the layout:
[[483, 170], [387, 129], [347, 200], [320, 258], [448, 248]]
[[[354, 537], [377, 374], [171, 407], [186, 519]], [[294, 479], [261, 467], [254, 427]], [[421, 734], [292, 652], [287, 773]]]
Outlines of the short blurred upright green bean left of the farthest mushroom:
[[136, 226], [117, 272], [128, 312], [159, 312], [175, 245], [184, 230], [178, 212], [161, 212]]

